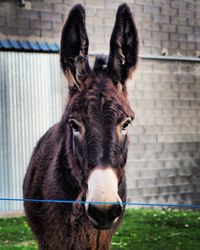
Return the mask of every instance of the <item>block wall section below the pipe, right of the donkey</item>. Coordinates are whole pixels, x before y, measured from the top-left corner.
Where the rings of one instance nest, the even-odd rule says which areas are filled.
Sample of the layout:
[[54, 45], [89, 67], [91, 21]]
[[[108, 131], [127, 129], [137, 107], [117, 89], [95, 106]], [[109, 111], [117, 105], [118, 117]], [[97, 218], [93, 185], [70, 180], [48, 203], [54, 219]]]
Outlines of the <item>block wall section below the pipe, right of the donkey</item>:
[[200, 202], [200, 63], [141, 60], [129, 98], [129, 200]]

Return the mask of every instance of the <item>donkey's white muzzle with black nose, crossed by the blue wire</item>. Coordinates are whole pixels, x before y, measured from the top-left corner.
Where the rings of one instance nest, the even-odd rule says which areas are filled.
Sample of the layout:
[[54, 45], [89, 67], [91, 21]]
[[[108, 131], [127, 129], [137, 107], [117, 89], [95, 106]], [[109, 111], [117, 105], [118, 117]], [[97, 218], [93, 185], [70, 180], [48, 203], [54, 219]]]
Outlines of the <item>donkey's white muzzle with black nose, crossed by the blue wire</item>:
[[86, 211], [97, 229], [110, 229], [123, 212], [117, 175], [111, 167], [96, 167], [88, 179]]

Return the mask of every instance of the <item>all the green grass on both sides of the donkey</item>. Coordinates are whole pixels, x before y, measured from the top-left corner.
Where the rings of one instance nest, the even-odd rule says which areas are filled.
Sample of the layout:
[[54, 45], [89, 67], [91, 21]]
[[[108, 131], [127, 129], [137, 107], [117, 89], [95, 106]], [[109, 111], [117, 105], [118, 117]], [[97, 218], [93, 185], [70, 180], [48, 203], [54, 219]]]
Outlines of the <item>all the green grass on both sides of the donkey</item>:
[[[37, 249], [25, 217], [0, 219], [0, 250], [11, 249]], [[129, 209], [111, 249], [199, 250], [200, 211]]]

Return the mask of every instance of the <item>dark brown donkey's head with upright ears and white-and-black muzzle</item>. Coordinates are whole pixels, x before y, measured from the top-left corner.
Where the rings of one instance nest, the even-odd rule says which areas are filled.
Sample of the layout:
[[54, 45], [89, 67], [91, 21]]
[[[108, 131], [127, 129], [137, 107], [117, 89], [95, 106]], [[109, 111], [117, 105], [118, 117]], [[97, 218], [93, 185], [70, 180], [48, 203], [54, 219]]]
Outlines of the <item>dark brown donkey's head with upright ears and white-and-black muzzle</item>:
[[[94, 227], [107, 229], [124, 210], [119, 203], [126, 199], [127, 128], [134, 118], [126, 81], [136, 67], [138, 36], [126, 4], [118, 8], [108, 58], [96, 58], [93, 69], [88, 63], [88, 46], [85, 10], [76, 5], [61, 38], [61, 67], [69, 83], [63, 120], [72, 163], [81, 169], [87, 187], [87, 215]], [[96, 201], [116, 204], [94, 204]]]

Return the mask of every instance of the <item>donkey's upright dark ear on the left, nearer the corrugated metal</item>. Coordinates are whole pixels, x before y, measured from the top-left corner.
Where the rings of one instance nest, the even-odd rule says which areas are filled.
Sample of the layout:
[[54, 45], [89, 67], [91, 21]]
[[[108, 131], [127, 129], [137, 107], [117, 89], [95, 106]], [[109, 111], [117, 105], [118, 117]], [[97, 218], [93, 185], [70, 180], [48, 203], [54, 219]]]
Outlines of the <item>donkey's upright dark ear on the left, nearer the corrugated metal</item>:
[[70, 89], [79, 89], [90, 71], [88, 46], [85, 9], [77, 4], [70, 11], [61, 36], [60, 63]]

